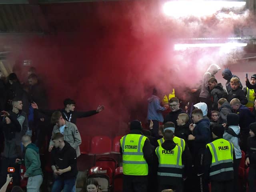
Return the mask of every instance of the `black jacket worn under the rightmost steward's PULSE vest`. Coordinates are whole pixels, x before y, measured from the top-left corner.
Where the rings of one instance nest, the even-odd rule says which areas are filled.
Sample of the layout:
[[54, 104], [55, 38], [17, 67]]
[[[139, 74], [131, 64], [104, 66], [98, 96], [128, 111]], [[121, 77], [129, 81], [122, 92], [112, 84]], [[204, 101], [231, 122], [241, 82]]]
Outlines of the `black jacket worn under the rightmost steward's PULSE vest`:
[[[220, 139], [219, 137], [214, 140]], [[233, 159], [236, 159], [235, 150], [233, 150]], [[212, 164], [212, 154], [210, 149], [207, 147], [204, 155], [204, 174], [206, 181], [210, 182], [210, 166]], [[228, 181], [234, 178], [234, 171], [224, 172], [223, 174], [218, 174], [218, 177], [213, 177], [211, 180], [214, 181]]]

